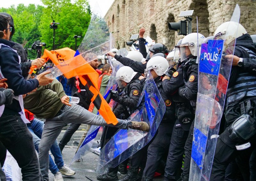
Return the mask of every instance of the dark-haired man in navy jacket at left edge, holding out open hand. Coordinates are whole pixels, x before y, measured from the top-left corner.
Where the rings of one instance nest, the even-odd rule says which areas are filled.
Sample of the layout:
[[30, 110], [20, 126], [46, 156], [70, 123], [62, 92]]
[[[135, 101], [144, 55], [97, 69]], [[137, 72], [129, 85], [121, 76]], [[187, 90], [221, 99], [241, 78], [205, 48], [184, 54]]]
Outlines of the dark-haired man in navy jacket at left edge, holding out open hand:
[[[26, 81], [21, 72], [20, 61], [17, 53], [12, 49], [14, 43], [9, 41], [12, 27], [8, 19], [0, 15], [0, 66], [3, 76], [7, 79], [8, 88], [14, 91], [12, 104], [4, 105], [3, 114], [0, 117], [0, 141], [12, 154], [21, 168], [22, 180], [42, 180], [39, 163], [36, 156], [32, 135], [29, 133], [23, 114], [22, 96], [33, 91], [39, 85], [47, 85], [53, 79], [46, 78], [45, 72], [36, 79]], [[20, 95], [20, 96], [19, 96]], [[0, 155], [5, 150], [0, 150]]]

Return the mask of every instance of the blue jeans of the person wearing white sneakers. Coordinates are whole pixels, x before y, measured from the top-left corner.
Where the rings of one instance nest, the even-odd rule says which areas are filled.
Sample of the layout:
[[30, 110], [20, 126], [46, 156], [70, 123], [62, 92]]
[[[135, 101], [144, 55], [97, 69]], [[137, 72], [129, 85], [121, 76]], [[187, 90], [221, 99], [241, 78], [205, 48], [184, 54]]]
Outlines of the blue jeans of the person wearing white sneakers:
[[[44, 129], [44, 122], [34, 118], [32, 123], [27, 124], [27, 127], [33, 136], [33, 142], [34, 142], [36, 151], [38, 152], [38, 146], [39, 146], [43, 129]], [[52, 157], [49, 156], [49, 170], [51, 170], [52, 174], [55, 174], [64, 165], [57, 140], [55, 140], [54, 143], [52, 144], [51, 152], [54, 157], [54, 162], [56, 164], [53, 162]]]

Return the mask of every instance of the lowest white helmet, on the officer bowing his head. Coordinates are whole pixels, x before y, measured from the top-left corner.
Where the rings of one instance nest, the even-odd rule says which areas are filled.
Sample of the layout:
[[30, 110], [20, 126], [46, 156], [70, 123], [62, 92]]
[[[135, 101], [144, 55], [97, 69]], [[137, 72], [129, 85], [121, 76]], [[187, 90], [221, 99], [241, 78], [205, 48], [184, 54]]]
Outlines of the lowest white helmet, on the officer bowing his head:
[[[132, 78], [137, 74], [131, 67], [123, 66], [116, 72], [116, 81], [119, 88], [124, 87], [126, 83], [131, 82]], [[125, 83], [124, 83], [125, 82]]]

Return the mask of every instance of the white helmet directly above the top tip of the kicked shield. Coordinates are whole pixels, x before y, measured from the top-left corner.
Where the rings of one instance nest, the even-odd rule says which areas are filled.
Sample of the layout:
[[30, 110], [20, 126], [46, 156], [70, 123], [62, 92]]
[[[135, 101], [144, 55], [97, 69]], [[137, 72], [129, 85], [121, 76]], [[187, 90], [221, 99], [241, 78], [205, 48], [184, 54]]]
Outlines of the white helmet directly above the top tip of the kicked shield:
[[146, 71], [153, 69], [158, 76], [162, 76], [168, 68], [169, 64], [164, 57], [155, 56], [148, 61]]

